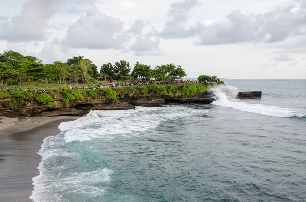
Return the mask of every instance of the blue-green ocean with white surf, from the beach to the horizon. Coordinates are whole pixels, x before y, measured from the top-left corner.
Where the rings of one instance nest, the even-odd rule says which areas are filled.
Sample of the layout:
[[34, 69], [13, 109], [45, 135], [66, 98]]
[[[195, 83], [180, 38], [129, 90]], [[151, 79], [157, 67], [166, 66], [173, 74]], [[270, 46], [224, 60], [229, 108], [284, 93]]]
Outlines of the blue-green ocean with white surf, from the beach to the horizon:
[[[303, 201], [306, 80], [226, 80], [210, 105], [91, 111], [44, 140], [35, 202]], [[262, 100], [235, 100], [262, 91]]]

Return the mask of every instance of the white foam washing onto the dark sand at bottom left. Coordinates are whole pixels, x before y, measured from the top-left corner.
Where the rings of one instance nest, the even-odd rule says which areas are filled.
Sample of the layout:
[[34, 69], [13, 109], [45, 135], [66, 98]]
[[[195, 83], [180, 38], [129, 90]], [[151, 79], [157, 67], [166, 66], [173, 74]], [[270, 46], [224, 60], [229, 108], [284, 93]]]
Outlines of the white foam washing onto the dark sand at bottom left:
[[[65, 172], [67, 169], [55, 165], [54, 159], [78, 157], [77, 153], [67, 152], [64, 144], [61, 135], [47, 137], [44, 140], [38, 152], [42, 158], [38, 166], [39, 176], [32, 179], [34, 190], [29, 197], [34, 202], [67, 201], [61, 193], [83, 193], [88, 197], [99, 197], [105, 194], [105, 190], [100, 184], [110, 181], [113, 171], [108, 168], [99, 168], [89, 172], [63, 175], [61, 172]], [[95, 184], [99, 184], [99, 186]]]

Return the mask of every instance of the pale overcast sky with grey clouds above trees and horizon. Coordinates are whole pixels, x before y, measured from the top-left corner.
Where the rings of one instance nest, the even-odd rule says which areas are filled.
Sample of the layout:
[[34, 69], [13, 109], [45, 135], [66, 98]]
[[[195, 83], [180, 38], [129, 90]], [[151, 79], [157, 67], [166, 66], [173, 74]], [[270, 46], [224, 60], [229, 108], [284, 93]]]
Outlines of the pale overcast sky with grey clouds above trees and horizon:
[[306, 0], [0, 0], [0, 52], [306, 79]]

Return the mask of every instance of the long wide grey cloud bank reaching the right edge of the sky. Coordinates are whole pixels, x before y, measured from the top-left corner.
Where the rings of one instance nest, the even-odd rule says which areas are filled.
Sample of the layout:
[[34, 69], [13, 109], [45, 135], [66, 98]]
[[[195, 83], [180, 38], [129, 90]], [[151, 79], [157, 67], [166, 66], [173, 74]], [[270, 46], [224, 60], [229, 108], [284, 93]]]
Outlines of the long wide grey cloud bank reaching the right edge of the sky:
[[205, 26], [197, 45], [274, 43], [305, 36], [305, 13], [304, 5], [295, 4], [256, 15], [234, 10], [225, 21]]

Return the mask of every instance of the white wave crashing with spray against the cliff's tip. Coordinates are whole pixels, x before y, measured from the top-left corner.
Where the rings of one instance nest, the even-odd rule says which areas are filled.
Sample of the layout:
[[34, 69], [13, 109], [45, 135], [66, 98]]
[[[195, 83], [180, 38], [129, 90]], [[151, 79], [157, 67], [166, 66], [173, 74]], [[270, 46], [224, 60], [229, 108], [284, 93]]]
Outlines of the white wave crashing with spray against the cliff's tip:
[[232, 86], [217, 86], [212, 88], [211, 91], [214, 92], [217, 100], [214, 101], [213, 105], [218, 105], [222, 107], [233, 108], [239, 111], [256, 113], [263, 116], [271, 117], [298, 117], [305, 118], [306, 115], [300, 112], [289, 111], [287, 109], [280, 109], [273, 106], [264, 106], [258, 104], [248, 104], [245, 102], [237, 102], [235, 100], [238, 95], [238, 89]]

